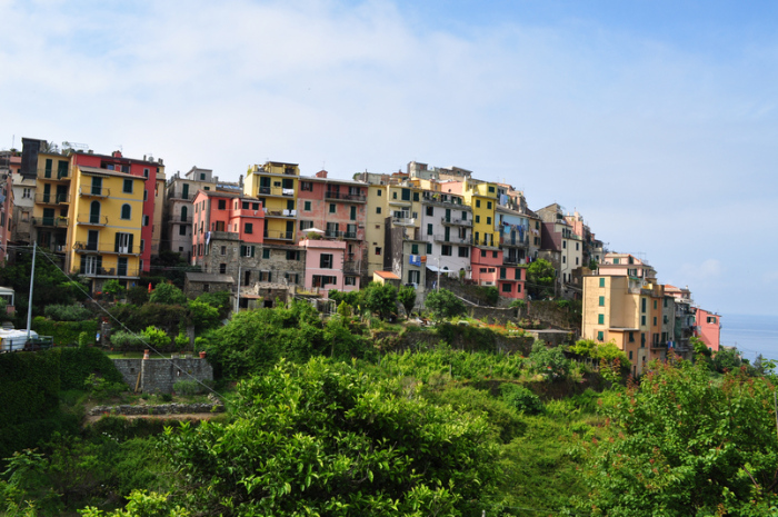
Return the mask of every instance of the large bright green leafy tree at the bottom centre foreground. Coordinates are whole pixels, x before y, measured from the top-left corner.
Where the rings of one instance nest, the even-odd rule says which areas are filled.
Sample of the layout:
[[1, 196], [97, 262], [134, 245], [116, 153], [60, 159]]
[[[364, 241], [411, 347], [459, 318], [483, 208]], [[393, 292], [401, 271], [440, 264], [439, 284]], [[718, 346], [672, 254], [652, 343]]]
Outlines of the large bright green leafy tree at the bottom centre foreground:
[[242, 381], [229, 424], [166, 431], [202, 515], [480, 515], [496, 480], [481, 416], [313, 359]]

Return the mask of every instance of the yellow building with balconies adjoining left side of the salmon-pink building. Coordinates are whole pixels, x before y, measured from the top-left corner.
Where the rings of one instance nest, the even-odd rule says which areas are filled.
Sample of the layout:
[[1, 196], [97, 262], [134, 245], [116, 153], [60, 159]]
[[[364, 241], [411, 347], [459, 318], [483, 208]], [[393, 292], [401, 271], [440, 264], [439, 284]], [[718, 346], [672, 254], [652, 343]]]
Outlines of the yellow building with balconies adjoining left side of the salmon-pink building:
[[300, 168], [297, 163], [268, 161], [249, 167], [243, 193], [259, 198], [265, 209], [265, 241], [296, 241], [297, 193]]

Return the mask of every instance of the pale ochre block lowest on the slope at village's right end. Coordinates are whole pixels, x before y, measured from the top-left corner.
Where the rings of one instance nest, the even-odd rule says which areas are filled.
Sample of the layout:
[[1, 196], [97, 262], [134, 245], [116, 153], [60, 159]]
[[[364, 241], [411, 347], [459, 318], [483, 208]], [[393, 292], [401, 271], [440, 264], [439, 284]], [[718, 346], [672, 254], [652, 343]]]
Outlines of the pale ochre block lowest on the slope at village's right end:
[[650, 357], [650, 286], [627, 276], [584, 277], [584, 339], [612, 341], [631, 362], [634, 376], [641, 375]]

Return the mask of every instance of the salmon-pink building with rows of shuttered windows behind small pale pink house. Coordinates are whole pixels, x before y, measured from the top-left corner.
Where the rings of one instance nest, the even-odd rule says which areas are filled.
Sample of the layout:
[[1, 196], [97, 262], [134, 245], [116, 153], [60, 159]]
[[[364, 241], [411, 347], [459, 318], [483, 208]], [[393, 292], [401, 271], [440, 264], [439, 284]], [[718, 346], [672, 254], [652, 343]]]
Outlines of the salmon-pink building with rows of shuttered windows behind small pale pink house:
[[360, 275], [365, 261], [367, 190], [363, 181], [328, 178], [321, 170], [315, 177], [300, 177], [298, 192], [299, 236], [307, 238], [309, 228], [325, 230], [323, 237], [346, 242], [343, 270]]

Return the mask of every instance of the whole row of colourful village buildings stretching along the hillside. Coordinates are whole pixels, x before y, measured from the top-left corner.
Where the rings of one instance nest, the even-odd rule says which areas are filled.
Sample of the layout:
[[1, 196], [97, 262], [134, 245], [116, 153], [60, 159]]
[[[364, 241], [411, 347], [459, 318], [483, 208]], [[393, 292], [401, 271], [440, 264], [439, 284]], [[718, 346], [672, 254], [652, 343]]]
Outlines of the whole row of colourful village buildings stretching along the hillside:
[[580, 300], [580, 337], [616, 342], [634, 375], [668, 350], [690, 358], [692, 336], [720, 345], [719, 315], [660, 284], [644, 258], [607, 249], [580, 213], [531, 210], [525, 192], [466, 169], [411, 161], [349, 180], [268, 161], [228, 182], [199, 167], [168, 175], [150, 156], [22, 145], [0, 151], [0, 262], [34, 242], [92, 292], [144, 285], [154, 259], [174, 252], [199, 268], [186, 275], [189, 297], [227, 290], [238, 310], [370, 281], [411, 285], [421, 307], [441, 277], [495, 287], [508, 306], [531, 304], [527, 270], [546, 260], [555, 278], [543, 295]]

